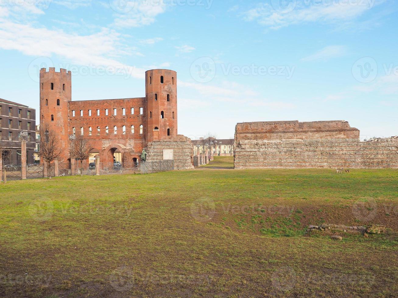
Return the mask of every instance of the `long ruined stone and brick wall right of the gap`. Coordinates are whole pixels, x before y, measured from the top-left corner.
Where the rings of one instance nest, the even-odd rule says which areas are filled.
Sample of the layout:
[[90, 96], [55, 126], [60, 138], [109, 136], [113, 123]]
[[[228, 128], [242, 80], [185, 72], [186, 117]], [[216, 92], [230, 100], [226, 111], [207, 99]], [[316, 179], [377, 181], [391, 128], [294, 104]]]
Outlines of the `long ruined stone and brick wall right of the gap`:
[[[321, 122], [314, 125], [304, 122], [308, 125], [301, 126], [295, 122], [296, 131], [290, 128], [285, 131], [282, 126], [250, 134], [260, 123], [268, 128], [270, 122], [236, 126], [235, 168], [398, 168], [396, 140], [360, 142], [359, 131], [350, 128], [347, 122], [329, 122], [316, 132], [308, 128]], [[340, 123], [343, 126], [330, 125]], [[351, 138], [351, 134], [355, 137]], [[281, 138], [275, 139], [276, 136]]]

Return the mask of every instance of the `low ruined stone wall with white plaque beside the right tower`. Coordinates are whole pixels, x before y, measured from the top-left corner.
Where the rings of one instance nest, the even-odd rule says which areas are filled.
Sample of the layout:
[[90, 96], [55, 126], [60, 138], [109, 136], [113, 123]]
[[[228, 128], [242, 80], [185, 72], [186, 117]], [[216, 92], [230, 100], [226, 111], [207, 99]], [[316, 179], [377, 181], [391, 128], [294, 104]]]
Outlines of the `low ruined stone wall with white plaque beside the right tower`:
[[191, 139], [177, 135], [169, 140], [152, 141], [146, 148], [147, 161], [163, 160], [163, 150], [173, 150], [174, 169], [193, 169], [193, 147]]

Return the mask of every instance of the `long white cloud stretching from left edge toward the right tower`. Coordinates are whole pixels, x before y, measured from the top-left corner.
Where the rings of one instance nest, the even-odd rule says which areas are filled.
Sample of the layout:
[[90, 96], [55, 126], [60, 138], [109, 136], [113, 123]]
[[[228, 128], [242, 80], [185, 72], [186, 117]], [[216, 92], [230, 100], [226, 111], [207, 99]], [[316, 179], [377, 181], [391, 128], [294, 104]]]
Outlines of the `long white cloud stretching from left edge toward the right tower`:
[[119, 34], [106, 28], [99, 33], [79, 36], [61, 30], [1, 22], [0, 48], [18, 50], [33, 57], [51, 57], [55, 54], [78, 65], [112, 66], [137, 78], [142, 78], [145, 72], [115, 60], [115, 57], [133, 54], [133, 48], [123, 47]]

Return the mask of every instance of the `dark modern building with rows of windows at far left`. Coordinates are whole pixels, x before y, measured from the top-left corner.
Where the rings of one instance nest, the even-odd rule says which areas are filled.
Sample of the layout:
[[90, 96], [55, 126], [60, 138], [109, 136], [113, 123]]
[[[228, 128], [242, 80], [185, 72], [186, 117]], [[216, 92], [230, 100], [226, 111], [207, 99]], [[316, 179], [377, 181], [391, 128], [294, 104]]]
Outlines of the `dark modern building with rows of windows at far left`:
[[20, 132], [28, 132], [27, 163], [33, 163], [36, 139], [36, 110], [23, 104], [0, 98], [0, 146], [5, 147], [3, 164], [18, 164], [21, 161]]

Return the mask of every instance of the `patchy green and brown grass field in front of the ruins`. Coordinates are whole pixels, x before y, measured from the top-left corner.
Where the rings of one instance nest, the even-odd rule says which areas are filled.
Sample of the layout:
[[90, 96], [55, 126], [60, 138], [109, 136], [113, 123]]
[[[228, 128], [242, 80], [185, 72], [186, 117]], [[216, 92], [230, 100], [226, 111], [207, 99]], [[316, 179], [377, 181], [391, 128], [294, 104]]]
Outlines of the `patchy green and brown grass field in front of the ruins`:
[[[0, 297], [394, 297], [397, 194], [397, 170], [9, 182], [0, 186]], [[304, 235], [320, 223], [388, 231]]]

